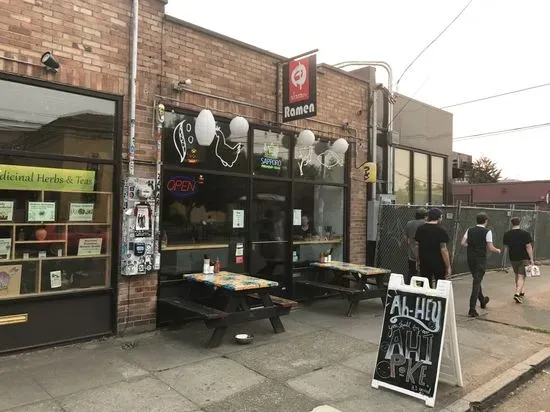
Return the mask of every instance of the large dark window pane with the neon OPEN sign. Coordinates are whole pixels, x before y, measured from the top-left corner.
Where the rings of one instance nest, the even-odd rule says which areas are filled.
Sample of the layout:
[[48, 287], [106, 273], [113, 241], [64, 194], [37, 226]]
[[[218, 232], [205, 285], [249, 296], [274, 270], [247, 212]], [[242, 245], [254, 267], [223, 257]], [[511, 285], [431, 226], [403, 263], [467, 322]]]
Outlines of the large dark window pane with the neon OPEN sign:
[[244, 270], [247, 191], [243, 178], [165, 170], [162, 278], [201, 272], [204, 255], [219, 258], [224, 269]]

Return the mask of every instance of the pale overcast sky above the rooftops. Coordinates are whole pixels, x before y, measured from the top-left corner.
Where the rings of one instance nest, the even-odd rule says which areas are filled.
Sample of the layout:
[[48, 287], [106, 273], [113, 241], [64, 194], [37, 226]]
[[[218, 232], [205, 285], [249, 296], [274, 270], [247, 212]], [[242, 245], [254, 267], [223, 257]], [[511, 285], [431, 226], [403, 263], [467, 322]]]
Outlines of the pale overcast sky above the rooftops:
[[[383, 60], [394, 82], [468, 0], [170, 0], [168, 14], [282, 56]], [[405, 73], [398, 91], [435, 107], [550, 83], [550, 1], [473, 0]], [[377, 81], [387, 85], [382, 69]], [[550, 179], [550, 127], [460, 139], [550, 122], [550, 86], [447, 109], [453, 150], [488, 156], [502, 177]]]

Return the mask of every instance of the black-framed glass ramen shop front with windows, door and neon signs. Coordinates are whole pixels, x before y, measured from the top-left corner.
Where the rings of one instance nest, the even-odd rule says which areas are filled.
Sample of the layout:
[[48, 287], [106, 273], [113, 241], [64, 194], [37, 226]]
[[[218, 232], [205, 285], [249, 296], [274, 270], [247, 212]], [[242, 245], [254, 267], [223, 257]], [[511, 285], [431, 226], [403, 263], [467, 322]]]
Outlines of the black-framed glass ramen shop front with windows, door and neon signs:
[[231, 119], [216, 117], [214, 140], [201, 146], [196, 120], [196, 112], [167, 107], [160, 297], [181, 293], [182, 275], [202, 272], [205, 256], [223, 270], [277, 281], [287, 296], [320, 253], [347, 258], [347, 157], [331, 157], [328, 139], [299, 147], [297, 133], [257, 125], [236, 137]]

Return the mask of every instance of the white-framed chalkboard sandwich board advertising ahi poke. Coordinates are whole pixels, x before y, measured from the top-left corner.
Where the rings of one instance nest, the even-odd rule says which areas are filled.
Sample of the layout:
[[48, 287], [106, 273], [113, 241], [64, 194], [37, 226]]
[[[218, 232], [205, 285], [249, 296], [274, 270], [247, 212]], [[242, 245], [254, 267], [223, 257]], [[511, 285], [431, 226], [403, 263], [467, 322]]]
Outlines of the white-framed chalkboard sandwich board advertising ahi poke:
[[372, 386], [434, 406], [438, 381], [462, 386], [452, 284], [392, 274]]

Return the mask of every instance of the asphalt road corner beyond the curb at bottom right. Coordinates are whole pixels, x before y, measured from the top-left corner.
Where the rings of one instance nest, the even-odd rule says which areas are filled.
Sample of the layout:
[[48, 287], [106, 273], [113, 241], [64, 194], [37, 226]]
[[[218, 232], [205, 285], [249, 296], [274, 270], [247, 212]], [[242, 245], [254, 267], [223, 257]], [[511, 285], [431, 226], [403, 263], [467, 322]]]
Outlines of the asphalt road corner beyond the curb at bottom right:
[[546, 369], [532, 380], [510, 393], [491, 412], [550, 412], [550, 370]]

